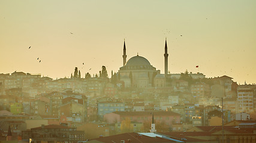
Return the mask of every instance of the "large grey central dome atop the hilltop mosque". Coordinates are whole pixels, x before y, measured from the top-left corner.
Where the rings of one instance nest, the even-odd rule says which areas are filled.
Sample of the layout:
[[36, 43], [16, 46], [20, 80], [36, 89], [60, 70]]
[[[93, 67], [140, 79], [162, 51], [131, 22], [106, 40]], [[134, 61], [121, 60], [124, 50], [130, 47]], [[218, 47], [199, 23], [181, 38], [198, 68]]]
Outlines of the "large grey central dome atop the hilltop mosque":
[[137, 55], [130, 58], [127, 61], [126, 66], [151, 66], [151, 64], [146, 58]]

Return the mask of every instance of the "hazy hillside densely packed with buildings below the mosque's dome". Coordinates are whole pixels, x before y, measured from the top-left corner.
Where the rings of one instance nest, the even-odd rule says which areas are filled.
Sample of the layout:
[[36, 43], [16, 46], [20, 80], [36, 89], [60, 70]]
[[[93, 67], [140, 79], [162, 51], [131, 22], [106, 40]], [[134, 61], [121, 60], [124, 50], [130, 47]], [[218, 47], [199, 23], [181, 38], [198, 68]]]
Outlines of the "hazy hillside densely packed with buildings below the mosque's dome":
[[[223, 104], [225, 132], [255, 141], [251, 137], [256, 133], [254, 84], [237, 85], [232, 77], [206, 78], [203, 73], [188, 71], [149, 73], [147, 79], [122, 72], [112, 72], [109, 77], [105, 71], [93, 76], [88, 73], [85, 78], [75, 71], [71, 78], [55, 80], [23, 72], [0, 74], [1, 139], [10, 132], [17, 141], [31, 136], [35, 141], [47, 137], [78, 142], [117, 135], [129, 139], [129, 132], [150, 131], [153, 114], [155, 130], [165, 133], [165, 138], [182, 141], [179, 135], [183, 131], [200, 134], [210, 128], [207, 136], [214, 136], [208, 138], [210, 142], [221, 138]], [[237, 131], [237, 126], [246, 130]], [[53, 130], [63, 130], [62, 137], [52, 135]], [[191, 139], [197, 133], [184, 136]], [[149, 138], [146, 134], [132, 136]], [[206, 142], [197, 139], [189, 141]]]

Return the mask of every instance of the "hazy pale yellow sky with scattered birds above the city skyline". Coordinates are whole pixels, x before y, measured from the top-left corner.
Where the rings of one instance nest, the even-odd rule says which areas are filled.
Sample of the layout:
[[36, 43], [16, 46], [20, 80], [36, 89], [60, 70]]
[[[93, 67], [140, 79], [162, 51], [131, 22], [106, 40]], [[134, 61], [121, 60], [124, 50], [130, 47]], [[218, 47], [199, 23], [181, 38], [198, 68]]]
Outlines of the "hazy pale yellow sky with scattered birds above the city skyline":
[[110, 76], [122, 66], [124, 38], [127, 59], [138, 52], [164, 73], [167, 37], [171, 73], [256, 83], [255, 7], [255, 0], [1, 0], [0, 73], [56, 79], [78, 67], [84, 77], [104, 65]]

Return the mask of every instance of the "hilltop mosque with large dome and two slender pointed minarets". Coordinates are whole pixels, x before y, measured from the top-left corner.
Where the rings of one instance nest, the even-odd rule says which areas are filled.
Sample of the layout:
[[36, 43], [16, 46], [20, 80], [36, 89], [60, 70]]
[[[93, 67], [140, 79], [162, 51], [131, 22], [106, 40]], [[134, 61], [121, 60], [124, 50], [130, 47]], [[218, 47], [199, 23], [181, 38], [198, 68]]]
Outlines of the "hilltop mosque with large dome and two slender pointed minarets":
[[146, 58], [138, 54], [127, 61], [125, 41], [123, 66], [120, 67], [118, 74], [125, 88], [165, 86], [165, 77], [168, 74], [167, 40], [165, 39], [164, 74], [160, 74], [160, 70], [156, 70]]

